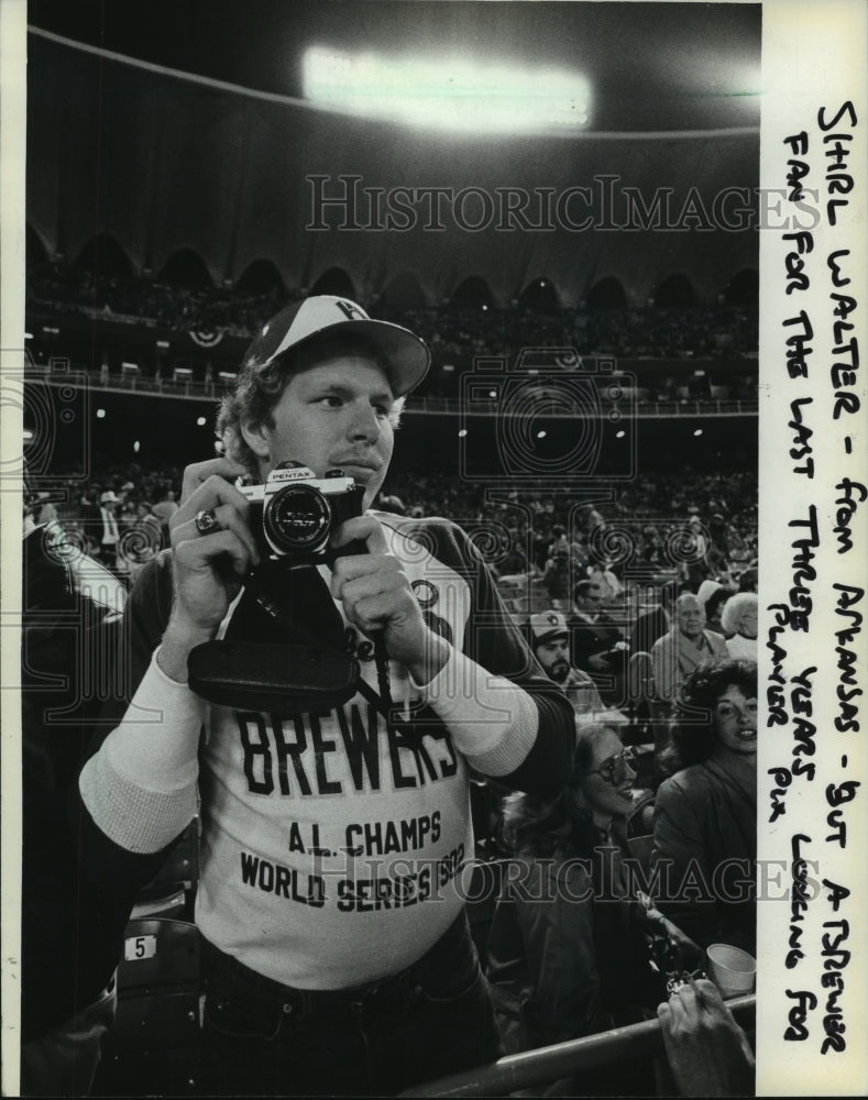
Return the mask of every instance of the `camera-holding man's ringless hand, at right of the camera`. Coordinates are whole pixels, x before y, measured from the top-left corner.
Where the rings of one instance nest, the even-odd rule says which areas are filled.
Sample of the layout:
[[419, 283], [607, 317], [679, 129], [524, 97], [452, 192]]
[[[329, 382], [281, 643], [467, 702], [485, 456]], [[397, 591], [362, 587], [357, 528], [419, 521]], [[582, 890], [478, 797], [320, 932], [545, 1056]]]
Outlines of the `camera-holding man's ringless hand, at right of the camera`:
[[336, 560], [332, 596], [369, 638], [383, 631], [386, 652], [416, 683], [429, 683], [447, 662], [447, 642], [422, 618], [404, 566], [388, 551], [380, 520], [374, 516], [348, 519], [332, 536], [332, 546], [342, 547], [353, 539], [366, 542], [369, 552]]

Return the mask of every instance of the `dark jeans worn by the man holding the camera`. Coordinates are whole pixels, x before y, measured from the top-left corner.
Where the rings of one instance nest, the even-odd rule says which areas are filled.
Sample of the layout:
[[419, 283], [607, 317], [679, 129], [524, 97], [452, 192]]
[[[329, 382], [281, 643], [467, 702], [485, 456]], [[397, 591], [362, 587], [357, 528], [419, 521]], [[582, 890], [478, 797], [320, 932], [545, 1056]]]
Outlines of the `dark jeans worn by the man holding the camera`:
[[386, 1096], [502, 1055], [466, 917], [407, 970], [299, 990], [205, 944], [206, 1094]]

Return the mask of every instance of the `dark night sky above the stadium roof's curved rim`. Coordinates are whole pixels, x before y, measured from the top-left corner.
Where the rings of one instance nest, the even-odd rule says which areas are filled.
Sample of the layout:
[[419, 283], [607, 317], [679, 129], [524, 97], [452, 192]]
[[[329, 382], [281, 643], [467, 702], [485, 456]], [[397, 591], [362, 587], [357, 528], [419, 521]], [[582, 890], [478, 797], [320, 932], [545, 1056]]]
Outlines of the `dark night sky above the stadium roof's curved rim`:
[[[1, 2], [1, 0], [0, 0]], [[590, 0], [30, 0], [34, 28], [301, 96], [309, 46], [578, 70], [594, 131], [758, 127], [761, 9]]]

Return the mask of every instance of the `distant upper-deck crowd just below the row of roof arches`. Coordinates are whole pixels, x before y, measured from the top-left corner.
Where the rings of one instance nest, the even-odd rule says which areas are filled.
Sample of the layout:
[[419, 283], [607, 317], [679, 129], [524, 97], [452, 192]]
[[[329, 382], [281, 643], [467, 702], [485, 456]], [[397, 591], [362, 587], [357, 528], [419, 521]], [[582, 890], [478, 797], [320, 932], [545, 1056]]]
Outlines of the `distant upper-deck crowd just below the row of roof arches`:
[[[47, 262], [34, 263], [28, 276], [31, 309], [97, 310], [179, 331], [215, 329], [245, 338], [281, 305], [297, 301], [305, 293], [301, 287], [243, 293], [210, 285], [175, 286], [132, 275], [94, 279], [76, 265]], [[757, 310], [736, 305], [594, 308], [551, 301], [534, 308], [517, 300], [502, 309], [455, 298], [409, 308], [375, 298], [371, 311], [418, 332], [436, 365], [460, 366], [473, 355], [513, 354], [526, 346], [575, 346], [586, 355], [630, 359], [751, 359], [758, 343]]]

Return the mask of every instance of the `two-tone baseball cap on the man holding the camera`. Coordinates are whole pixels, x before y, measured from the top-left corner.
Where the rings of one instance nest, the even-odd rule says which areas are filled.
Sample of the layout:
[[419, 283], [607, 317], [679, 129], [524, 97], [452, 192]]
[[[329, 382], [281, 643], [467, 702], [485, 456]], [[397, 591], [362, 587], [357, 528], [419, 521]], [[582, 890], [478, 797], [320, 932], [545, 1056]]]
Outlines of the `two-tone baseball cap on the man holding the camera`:
[[290, 348], [336, 331], [358, 332], [376, 348], [396, 397], [415, 389], [428, 373], [431, 353], [420, 337], [400, 324], [374, 320], [354, 301], [330, 294], [293, 302], [263, 324], [248, 348], [242, 369], [261, 369]]

